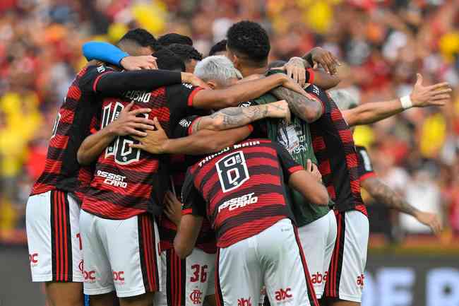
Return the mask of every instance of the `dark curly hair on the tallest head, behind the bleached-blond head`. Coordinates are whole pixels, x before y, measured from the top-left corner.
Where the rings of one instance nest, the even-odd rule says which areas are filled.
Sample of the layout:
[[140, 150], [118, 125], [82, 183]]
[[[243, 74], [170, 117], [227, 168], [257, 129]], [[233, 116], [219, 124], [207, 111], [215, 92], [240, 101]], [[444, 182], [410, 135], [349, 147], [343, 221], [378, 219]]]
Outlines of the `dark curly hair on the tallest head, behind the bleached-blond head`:
[[261, 25], [244, 20], [234, 23], [227, 32], [228, 48], [242, 59], [266, 64], [270, 51], [269, 37]]

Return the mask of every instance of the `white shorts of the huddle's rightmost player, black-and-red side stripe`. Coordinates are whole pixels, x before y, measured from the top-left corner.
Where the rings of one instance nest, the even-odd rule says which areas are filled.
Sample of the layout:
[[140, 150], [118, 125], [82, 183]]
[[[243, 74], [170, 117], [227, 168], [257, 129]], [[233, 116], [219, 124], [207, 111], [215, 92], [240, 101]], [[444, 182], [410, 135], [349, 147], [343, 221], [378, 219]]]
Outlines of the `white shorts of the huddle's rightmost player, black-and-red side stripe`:
[[351, 302], [362, 302], [368, 217], [360, 211], [335, 212], [338, 225], [335, 249], [328, 270], [325, 295]]

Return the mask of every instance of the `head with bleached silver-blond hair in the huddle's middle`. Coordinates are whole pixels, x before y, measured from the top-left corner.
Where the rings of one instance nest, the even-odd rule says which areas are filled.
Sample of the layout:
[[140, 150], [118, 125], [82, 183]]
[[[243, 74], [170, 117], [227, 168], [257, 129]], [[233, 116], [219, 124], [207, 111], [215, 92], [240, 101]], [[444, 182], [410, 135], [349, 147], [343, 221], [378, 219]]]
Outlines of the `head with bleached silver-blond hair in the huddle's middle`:
[[232, 86], [242, 78], [232, 62], [223, 55], [206, 57], [198, 62], [194, 74], [214, 89]]

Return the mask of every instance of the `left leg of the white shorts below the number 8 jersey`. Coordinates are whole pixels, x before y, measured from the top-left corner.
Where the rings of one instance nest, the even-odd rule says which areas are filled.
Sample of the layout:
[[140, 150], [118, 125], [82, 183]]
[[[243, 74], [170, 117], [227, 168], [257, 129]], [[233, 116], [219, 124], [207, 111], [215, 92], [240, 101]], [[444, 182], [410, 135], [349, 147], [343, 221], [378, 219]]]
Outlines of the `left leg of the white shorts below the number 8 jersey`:
[[256, 305], [263, 285], [256, 236], [217, 251], [215, 297], [220, 306]]

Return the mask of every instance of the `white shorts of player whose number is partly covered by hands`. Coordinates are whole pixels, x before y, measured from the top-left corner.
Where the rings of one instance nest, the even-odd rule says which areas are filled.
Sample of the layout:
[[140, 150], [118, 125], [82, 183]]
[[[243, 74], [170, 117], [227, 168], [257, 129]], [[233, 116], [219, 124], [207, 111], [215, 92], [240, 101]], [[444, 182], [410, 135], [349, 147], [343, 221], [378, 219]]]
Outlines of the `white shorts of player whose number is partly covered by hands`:
[[159, 234], [148, 213], [126, 220], [100, 218], [81, 211], [84, 293], [116, 290], [127, 298], [160, 290]]

